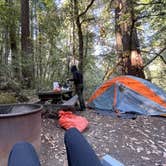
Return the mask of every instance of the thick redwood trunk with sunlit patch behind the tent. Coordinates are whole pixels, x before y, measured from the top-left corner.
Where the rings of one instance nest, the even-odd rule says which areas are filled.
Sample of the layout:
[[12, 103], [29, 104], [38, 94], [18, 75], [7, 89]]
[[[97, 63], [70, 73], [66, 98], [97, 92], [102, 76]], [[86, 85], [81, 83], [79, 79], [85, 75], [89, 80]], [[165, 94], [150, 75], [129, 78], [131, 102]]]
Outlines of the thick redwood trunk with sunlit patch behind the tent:
[[[123, 51], [118, 57], [121, 61], [121, 74], [135, 75], [144, 78], [143, 62], [140, 54], [140, 45], [135, 28], [134, 6], [130, 0], [118, 0], [115, 10], [116, 18], [116, 38], [122, 41]], [[125, 17], [124, 17], [125, 16]], [[123, 20], [123, 21], [122, 21]], [[120, 23], [121, 22], [121, 23]], [[117, 52], [119, 51], [119, 41], [116, 40]]]

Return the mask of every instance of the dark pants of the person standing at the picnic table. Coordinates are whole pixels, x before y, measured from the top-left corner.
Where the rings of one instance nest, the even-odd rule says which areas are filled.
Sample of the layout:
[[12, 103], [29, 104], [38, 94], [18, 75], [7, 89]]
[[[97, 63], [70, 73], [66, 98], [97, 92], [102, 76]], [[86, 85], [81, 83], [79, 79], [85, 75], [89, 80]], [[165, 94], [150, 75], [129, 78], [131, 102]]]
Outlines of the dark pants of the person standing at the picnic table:
[[78, 100], [80, 104], [81, 111], [85, 110], [85, 102], [83, 97], [83, 84], [78, 84], [75, 86], [76, 94], [78, 95]]

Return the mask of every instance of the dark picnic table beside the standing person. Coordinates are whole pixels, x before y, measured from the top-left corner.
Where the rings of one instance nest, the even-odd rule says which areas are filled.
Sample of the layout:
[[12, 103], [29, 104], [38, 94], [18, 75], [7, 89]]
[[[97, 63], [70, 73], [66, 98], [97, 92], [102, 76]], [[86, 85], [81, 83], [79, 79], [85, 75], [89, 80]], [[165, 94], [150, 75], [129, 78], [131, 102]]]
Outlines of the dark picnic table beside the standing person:
[[43, 91], [38, 92], [38, 97], [41, 103], [51, 100], [51, 103], [61, 104], [63, 100], [68, 100], [72, 97], [72, 90], [61, 90], [61, 91]]

